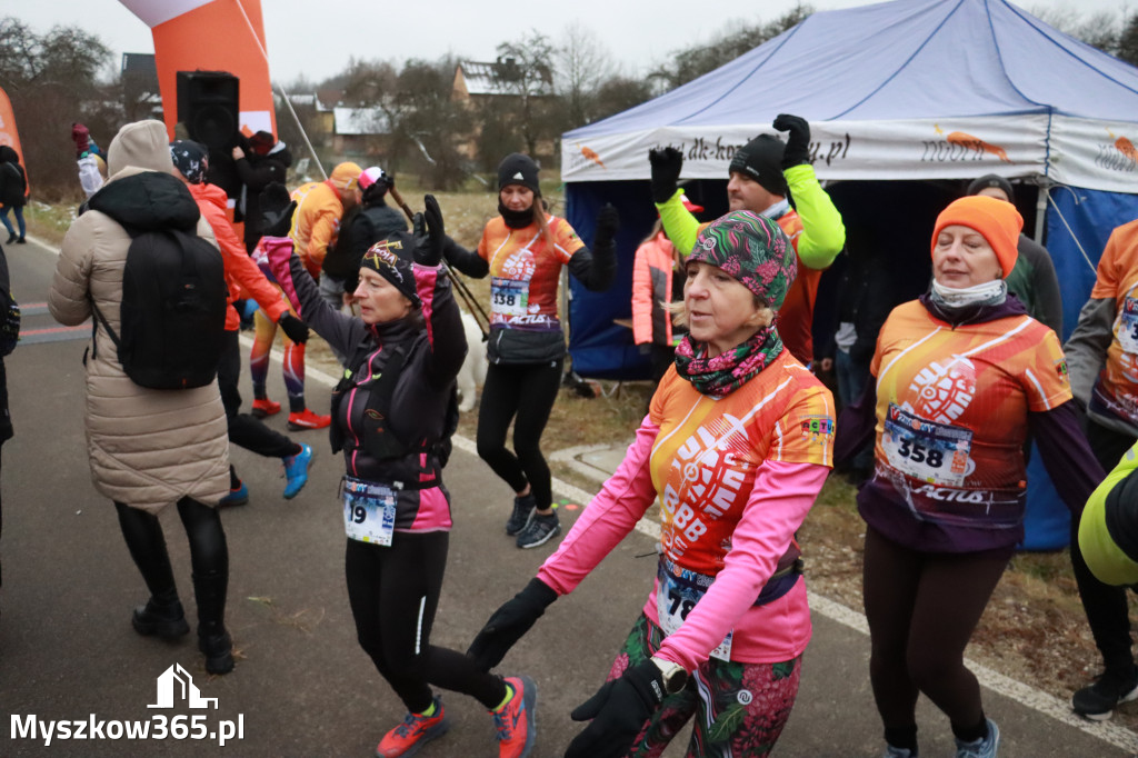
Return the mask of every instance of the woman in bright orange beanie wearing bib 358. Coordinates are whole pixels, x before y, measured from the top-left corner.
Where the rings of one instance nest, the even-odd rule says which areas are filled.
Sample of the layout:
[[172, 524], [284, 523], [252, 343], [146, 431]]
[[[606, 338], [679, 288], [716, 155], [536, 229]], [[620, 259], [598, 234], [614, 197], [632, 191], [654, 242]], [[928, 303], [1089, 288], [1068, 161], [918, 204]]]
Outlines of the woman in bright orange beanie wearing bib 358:
[[917, 755], [921, 692], [949, 717], [957, 756], [996, 756], [999, 730], [964, 648], [1023, 539], [1024, 436], [1075, 516], [1103, 478], [1058, 338], [1007, 297], [1022, 225], [1015, 206], [990, 197], [941, 212], [932, 287], [889, 315], [874, 379], [838, 422], [839, 462], [876, 432], [874, 476], [857, 502], [887, 756]]

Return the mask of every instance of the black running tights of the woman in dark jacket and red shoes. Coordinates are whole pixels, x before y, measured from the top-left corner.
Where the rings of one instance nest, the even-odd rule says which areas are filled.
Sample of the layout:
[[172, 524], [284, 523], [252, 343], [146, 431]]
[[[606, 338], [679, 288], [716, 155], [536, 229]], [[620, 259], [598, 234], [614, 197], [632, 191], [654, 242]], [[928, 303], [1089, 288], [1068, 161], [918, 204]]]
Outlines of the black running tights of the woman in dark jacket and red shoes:
[[360, 646], [412, 714], [430, 707], [431, 684], [487, 709], [505, 699], [500, 677], [430, 644], [450, 538], [447, 532], [396, 532], [389, 547], [347, 541], [344, 571]]

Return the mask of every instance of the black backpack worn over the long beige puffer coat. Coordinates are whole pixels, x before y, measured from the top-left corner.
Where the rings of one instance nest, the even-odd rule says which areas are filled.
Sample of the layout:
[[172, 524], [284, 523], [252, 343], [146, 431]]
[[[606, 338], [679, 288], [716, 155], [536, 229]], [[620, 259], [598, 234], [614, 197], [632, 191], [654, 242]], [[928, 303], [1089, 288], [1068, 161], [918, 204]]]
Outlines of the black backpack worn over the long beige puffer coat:
[[221, 362], [229, 302], [221, 254], [192, 232], [126, 231], [121, 336], [91, 303], [123, 371], [150, 389], [208, 385]]

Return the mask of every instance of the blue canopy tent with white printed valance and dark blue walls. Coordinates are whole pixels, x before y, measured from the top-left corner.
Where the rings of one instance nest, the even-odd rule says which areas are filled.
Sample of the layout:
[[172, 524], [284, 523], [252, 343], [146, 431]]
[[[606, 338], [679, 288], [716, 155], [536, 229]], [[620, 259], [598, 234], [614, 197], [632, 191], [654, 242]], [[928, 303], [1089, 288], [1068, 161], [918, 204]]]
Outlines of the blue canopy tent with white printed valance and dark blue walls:
[[[710, 220], [726, 211], [735, 149], [775, 133], [780, 113], [810, 122], [815, 170], [847, 224], [876, 224], [906, 259], [927, 261], [931, 219], [967, 181], [1011, 180], [1024, 231], [1055, 261], [1067, 333], [1111, 229], [1138, 217], [1138, 68], [1005, 0], [819, 11], [684, 86], [562, 135], [569, 222], [591, 242], [601, 205], [616, 205], [622, 220], [613, 288], [570, 285], [578, 373], [648, 372], [632, 332], [615, 322], [630, 314], [635, 248], [655, 220], [648, 151], [684, 153], [685, 191]], [[816, 321], [826, 307], [819, 300]]]

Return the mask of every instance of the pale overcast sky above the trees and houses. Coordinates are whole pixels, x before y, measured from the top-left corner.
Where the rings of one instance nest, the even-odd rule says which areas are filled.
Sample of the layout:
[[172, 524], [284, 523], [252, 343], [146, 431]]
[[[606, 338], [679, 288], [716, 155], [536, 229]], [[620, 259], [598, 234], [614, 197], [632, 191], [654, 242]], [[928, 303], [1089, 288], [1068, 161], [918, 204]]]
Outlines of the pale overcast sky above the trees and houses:
[[[160, 2], [162, 0], [152, 0]], [[224, 1], [224, 0], [223, 0]], [[435, 60], [447, 53], [493, 60], [495, 48], [537, 30], [556, 44], [572, 24], [591, 31], [613, 63], [628, 75], [643, 75], [668, 55], [706, 43], [735, 23], [774, 20], [794, 0], [262, 0], [270, 75], [291, 83], [303, 73], [311, 82], [343, 71], [348, 58]], [[816, 10], [869, 5], [865, 0], [814, 0]], [[1097, 11], [1138, 10], [1138, 0], [1030, 0], [1025, 9], [1058, 9], [1089, 17]], [[5, 2], [11, 15], [36, 33], [52, 25], [79, 25], [110, 48], [118, 65], [123, 52], [154, 52], [150, 30], [117, 0], [24, 0]], [[749, 10], [749, 9], [758, 10]], [[208, 43], [208, 42], [207, 42]]]

